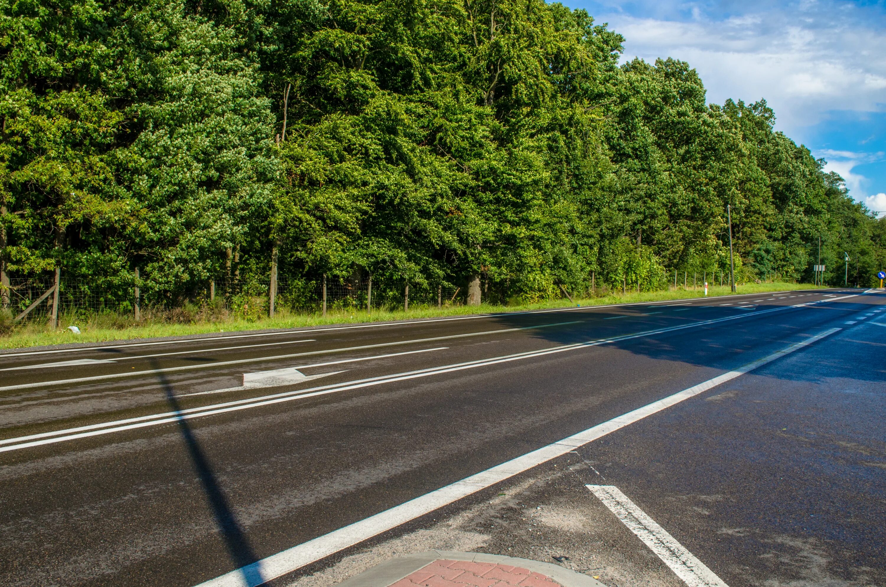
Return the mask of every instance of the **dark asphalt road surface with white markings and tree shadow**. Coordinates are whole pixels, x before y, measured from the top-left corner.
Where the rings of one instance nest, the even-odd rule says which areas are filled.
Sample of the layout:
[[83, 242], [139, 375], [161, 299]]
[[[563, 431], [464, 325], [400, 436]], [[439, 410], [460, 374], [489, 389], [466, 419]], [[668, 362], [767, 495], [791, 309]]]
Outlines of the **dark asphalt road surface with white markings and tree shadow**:
[[[886, 585], [884, 302], [821, 290], [6, 352], [0, 583], [195, 585], [839, 328], [564, 456], [577, 473], [550, 499], [599, 509], [582, 483], [604, 478], [732, 587]], [[293, 367], [307, 377], [265, 373]], [[618, 528], [587, 548], [645, 572]], [[515, 533], [485, 548], [568, 535]]]

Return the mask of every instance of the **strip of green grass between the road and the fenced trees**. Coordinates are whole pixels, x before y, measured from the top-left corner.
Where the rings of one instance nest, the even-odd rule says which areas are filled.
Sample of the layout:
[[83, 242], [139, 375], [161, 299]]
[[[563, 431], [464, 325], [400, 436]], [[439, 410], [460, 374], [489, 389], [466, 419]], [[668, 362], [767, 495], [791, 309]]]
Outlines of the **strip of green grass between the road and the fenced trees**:
[[[785, 290], [815, 289], [811, 284], [789, 283], [762, 283], [738, 286], [738, 294], [757, 294], [764, 292], [779, 292]], [[467, 314], [480, 314], [491, 312], [514, 312], [530, 309], [555, 309], [570, 308], [576, 303], [582, 306], [602, 306], [614, 303], [631, 303], [637, 301], [667, 301], [688, 298], [703, 297], [701, 288], [632, 293], [610, 294], [590, 299], [580, 299], [570, 302], [568, 300], [549, 300], [539, 303], [498, 306], [483, 304], [479, 307], [452, 306], [437, 309], [436, 307], [416, 307], [403, 310], [373, 309], [371, 313], [366, 310], [355, 311], [330, 311], [326, 317], [306, 314], [290, 314], [280, 312], [273, 318], [262, 318], [255, 321], [247, 321], [238, 317], [207, 317], [198, 319], [189, 324], [169, 324], [167, 322], [136, 323], [131, 318], [116, 315], [95, 315], [86, 319], [77, 320], [74, 317], [60, 317], [59, 328], [52, 331], [47, 325], [30, 323], [19, 325], [10, 333], [0, 336], [0, 348], [22, 348], [46, 345], [66, 344], [71, 342], [104, 342], [109, 340], [132, 340], [150, 339], [167, 336], [184, 336], [187, 334], [206, 333], [234, 333], [250, 330], [264, 330], [274, 328], [303, 328], [306, 326], [357, 324], [366, 322], [382, 322], [390, 320], [404, 320], [408, 318], [428, 318], [460, 316]], [[713, 286], [709, 289], [710, 296], [729, 294], [729, 286]], [[74, 334], [66, 330], [68, 325], [76, 325], [81, 329], [80, 334]]]

